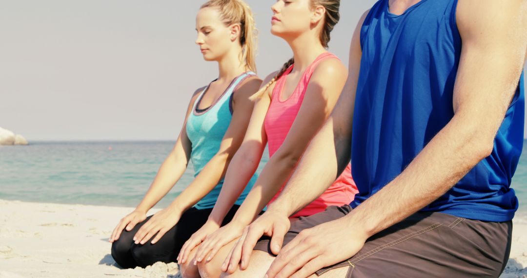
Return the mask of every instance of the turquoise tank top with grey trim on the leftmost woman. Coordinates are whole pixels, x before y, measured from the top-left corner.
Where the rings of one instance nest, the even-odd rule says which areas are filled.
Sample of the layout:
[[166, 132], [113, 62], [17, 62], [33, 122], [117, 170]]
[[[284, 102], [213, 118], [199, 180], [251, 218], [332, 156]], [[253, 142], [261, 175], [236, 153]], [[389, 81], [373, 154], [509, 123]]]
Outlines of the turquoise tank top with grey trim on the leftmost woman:
[[[221, 141], [223, 140], [223, 136], [225, 136], [232, 119], [232, 93], [235, 91], [235, 88], [245, 80], [245, 78], [254, 75], [256, 74], [253, 72], [247, 72], [236, 77], [218, 100], [205, 110], [198, 110], [198, 105], [209, 86], [203, 90], [197, 98], [197, 101], [194, 102], [192, 112], [187, 120], [187, 136], [192, 143], [190, 160], [194, 166], [194, 177], [198, 176], [201, 170], [203, 170], [203, 167], [205, 167], [212, 157], [220, 150]], [[241, 203], [243, 203], [243, 200], [247, 197], [252, 185], [256, 182], [257, 177], [257, 174], [252, 176], [250, 182], [247, 184], [245, 190], [235, 204], [241, 205]], [[214, 204], [216, 204], [218, 196], [220, 195], [222, 185], [223, 179], [209, 194], [204, 196], [196, 205], [194, 205], [194, 207], [199, 210], [214, 207]]]

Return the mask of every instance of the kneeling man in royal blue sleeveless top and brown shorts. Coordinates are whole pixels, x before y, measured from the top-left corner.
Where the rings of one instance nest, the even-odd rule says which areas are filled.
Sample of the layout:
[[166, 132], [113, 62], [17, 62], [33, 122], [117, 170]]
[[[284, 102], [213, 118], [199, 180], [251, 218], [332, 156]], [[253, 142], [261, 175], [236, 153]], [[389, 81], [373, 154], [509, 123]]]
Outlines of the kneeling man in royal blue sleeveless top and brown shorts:
[[[378, 1], [355, 30], [332, 117], [233, 250], [249, 262], [238, 273], [499, 276], [518, 208], [526, 57], [526, 0]], [[350, 157], [355, 201], [290, 224]]]

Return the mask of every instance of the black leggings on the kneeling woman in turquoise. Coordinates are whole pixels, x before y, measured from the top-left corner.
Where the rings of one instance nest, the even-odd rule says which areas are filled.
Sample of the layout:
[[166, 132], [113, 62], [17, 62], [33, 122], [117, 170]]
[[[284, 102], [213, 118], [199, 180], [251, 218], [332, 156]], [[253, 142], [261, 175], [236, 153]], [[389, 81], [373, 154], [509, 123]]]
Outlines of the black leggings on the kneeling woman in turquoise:
[[[239, 207], [239, 205], [232, 206], [231, 210], [225, 216], [221, 224], [222, 226], [232, 220], [232, 217], [236, 214]], [[157, 243], [150, 243], [153, 240], [152, 237], [152, 239], [143, 245], [135, 244], [132, 240], [133, 236], [144, 223], [150, 220], [150, 217], [152, 217], [150, 215], [145, 221], [135, 225], [132, 231], [123, 230], [119, 240], [116, 240], [112, 244], [112, 257], [116, 263], [125, 269], [136, 266], [147, 267], [156, 262], [175, 262], [183, 244], [207, 222], [211, 212], [212, 208], [198, 210], [192, 207], [181, 215], [178, 224], [165, 233]]]

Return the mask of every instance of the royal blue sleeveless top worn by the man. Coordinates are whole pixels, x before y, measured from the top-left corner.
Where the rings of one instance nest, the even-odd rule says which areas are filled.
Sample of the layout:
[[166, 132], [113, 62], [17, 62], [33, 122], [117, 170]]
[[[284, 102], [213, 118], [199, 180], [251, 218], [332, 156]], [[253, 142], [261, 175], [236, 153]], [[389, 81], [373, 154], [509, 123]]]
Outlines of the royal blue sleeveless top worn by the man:
[[[461, 56], [457, 0], [422, 0], [402, 15], [378, 1], [360, 31], [362, 60], [353, 119], [356, 207], [398, 176], [454, 116]], [[423, 211], [502, 222], [514, 217], [510, 188], [523, 146], [523, 74], [489, 157]], [[431, 162], [433, 163], [433, 162]]]

